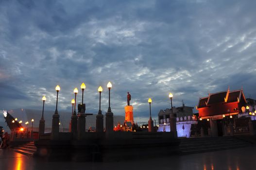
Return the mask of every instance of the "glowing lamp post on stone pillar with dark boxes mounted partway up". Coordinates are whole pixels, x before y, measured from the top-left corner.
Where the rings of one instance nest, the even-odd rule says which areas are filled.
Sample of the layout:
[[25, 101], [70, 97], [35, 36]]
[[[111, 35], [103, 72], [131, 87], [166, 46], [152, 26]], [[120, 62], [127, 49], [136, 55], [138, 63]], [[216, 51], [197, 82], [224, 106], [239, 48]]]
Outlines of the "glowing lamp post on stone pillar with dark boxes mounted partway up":
[[77, 137], [78, 139], [81, 139], [82, 136], [85, 134], [85, 110], [84, 110], [84, 90], [85, 90], [85, 84], [82, 83], [81, 85], [82, 89], [82, 105], [81, 105], [81, 111], [78, 114], [78, 124], [77, 124]]

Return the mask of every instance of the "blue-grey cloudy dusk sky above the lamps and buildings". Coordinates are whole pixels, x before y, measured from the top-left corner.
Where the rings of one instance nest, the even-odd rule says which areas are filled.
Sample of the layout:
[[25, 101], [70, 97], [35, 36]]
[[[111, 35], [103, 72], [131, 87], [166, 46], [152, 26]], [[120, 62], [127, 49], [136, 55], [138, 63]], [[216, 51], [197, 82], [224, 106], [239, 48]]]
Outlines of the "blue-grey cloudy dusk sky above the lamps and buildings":
[[[135, 117], [243, 87], [256, 98], [255, 0], [0, 0], [0, 109], [70, 110], [85, 82], [86, 112]], [[81, 101], [81, 91], [78, 102]], [[196, 111], [196, 110], [195, 110]], [[139, 119], [138, 118], [138, 119]]]

